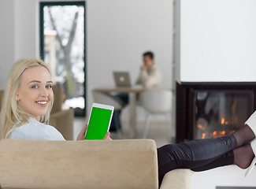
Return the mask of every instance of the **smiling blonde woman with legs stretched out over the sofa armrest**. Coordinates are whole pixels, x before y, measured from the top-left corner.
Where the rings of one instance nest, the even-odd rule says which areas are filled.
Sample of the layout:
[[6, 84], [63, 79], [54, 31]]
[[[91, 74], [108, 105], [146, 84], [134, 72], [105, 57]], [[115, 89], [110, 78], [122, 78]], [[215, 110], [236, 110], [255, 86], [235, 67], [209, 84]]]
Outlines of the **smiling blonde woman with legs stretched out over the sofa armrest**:
[[[65, 140], [47, 124], [54, 102], [52, 85], [50, 70], [43, 61], [30, 58], [13, 65], [2, 100], [1, 139]], [[86, 128], [87, 125], [77, 139], [84, 139]], [[256, 142], [250, 141], [255, 134], [256, 113], [232, 135], [161, 146], [158, 148], [159, 185], [165, 173], [173, 169], [204, 171], [232, 164], [242, 169], [251, 164], [252, 168]], [[110, 139], [109, 133], [104, 139]]]

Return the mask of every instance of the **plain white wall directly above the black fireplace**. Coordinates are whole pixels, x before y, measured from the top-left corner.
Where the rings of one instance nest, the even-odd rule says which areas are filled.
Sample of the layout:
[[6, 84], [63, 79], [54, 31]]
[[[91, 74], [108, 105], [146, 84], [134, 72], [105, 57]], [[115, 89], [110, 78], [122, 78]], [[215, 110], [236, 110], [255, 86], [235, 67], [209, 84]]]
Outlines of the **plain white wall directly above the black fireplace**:
[[256, 1], [181, 0], [181, 81], [256, 81]]

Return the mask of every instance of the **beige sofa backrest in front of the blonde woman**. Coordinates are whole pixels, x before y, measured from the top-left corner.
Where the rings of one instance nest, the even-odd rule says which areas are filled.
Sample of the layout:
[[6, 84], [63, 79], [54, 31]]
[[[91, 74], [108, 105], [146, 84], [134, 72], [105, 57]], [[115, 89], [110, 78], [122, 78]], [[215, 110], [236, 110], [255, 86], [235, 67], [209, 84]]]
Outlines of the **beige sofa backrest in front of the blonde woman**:
[[2, 188], [158, 188], [153, 140], [0, 141]]

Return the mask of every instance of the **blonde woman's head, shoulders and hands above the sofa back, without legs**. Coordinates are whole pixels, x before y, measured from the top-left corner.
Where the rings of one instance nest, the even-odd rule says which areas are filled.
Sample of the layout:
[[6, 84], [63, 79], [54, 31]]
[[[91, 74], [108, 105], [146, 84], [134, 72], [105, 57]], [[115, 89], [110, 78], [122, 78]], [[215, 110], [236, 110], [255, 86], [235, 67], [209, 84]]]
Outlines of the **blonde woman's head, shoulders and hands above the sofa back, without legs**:
[[[47, 125], [54, 103], [52, 85], [50, 69], [43, 61], [29, 58], [13, 65], [2, 100], [1, 139], [65, 140]], [[84, 139], [86, 127], [77, 139]], [[104, 139], [110, 139], [109, 135]]]

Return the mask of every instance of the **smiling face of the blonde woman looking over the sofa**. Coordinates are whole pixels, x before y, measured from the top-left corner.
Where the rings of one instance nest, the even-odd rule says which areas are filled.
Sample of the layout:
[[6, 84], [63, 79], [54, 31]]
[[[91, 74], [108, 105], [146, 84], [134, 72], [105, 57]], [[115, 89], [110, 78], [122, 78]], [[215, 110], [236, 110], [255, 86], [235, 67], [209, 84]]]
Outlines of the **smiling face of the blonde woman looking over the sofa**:
[[43, 66], [25, 69], [20, 76], [17, 102], [36, 120], [46, 114], [54, 97], [50, 73]]

